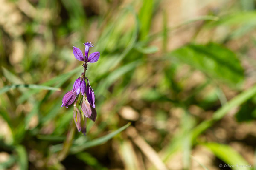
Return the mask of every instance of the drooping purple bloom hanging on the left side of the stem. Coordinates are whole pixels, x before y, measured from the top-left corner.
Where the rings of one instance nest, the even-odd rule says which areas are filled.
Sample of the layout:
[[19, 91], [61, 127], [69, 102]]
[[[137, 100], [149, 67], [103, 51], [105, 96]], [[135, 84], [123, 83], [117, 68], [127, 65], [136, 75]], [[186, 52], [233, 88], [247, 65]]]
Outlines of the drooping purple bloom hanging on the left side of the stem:
[[67, 108], [67, 106], [71, 105], [76, 100], [76, 96], [79, 95], [80, 91], [81, 91], [82, 95], [84, 96], [85, 89], [86, 89], [85, 81], [82, 77], [79, 77], [74, 82], [72, 90], [68, 91], [63, 96], [61, 107], [66, 106], [66, 108]]

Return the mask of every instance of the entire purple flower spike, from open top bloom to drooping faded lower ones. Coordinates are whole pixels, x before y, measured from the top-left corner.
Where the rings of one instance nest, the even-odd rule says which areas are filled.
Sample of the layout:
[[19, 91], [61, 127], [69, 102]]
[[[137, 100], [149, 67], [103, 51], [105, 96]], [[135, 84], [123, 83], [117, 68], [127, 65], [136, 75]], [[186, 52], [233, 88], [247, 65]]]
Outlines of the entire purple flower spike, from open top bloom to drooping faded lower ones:
[[[62, 106], [66, 106], [66, 108], [75, 102], [76, 97], [80, 94], [83, 96], [81, 99], [76, 100], [74, 104], [73, 118], [77, 127], [77, 130], [82, 133], [86, 133], [86, 119], [89, 118], [93, 121], [96, 120], [96, 109], [95, 109], [95, 96], [93, 88], [90, 86], [90, 82], [88, 77], [85, 76], [85, 71], [87, 70], [87, 62], [97, 62], [100, 56], [99, 52], [94, 52], [88, 56], [89, 48], [93, 47], [93, 44], [86, 42], [84, 43], [84, 56], [82, 51], [79, 48], [73, 47], [73, 54], [79, 61], [83, 61], [84, 72], [81, 73], [81, 77], [76, 79], [74, 82], [73, 88], [71, 91], [68, 91], [62, 99]], [[87, 80], [87, 85], [85, 80]], [[84, 115], [81, 114], [79, 108], [76, 107], [76, 104], [80, 105], [81, 103], [81, 111]], [[84, 118], [85, 117], [85, 118]]]

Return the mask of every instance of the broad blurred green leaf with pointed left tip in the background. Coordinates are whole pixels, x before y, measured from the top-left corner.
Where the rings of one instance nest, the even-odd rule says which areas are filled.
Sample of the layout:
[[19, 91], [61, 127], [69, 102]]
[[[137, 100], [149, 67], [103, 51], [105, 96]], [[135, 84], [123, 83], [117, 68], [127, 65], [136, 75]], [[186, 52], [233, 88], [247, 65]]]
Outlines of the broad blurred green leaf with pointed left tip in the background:
[[215, 43], [186, 45], [170, 54], [179, 61], [203, 71], [209, 78], [239, 85], [244, 80], [244, 71], [236, 55]]

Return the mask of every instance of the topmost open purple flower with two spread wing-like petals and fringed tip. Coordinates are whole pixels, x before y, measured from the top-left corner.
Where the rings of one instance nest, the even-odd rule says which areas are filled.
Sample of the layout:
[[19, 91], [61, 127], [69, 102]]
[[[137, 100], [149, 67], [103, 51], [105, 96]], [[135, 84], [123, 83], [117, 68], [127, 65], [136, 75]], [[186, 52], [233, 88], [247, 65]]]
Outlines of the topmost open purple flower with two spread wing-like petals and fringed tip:
[[73, 47], [73, 54], [76, 57], [76, 59], [78, 59], [79, 61], [84, 61], [84, 62], [97, 62], [100, 56], [99, 52], [94, 52], [92, 54], [90, 54], [90, 56], [88, 57], [88, 53], [89, 53], [89, 48], [93, 47], [93, 44], [86, 42], [84, 43], [84, 56], [82, 51], [79, 48]]

